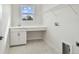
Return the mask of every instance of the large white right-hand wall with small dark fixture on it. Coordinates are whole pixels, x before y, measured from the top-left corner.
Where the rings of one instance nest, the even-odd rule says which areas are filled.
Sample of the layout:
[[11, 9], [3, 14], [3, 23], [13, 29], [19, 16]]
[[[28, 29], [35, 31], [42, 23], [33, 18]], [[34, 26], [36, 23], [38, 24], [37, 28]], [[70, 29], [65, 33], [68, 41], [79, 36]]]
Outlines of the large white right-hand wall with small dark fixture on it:
[[[75, 44], [79, 40], [79, 17], [69, 5], [52, 7], [43, 13], [43, 20], [44, 25], [48, 26], [45, 41], [56, 50], [56, 53], [62, 53], [62, 42], [71, 44], [72, 53], [78, 51]], [[55, 26], [55, 22], [58, 22], [59, 26]]]

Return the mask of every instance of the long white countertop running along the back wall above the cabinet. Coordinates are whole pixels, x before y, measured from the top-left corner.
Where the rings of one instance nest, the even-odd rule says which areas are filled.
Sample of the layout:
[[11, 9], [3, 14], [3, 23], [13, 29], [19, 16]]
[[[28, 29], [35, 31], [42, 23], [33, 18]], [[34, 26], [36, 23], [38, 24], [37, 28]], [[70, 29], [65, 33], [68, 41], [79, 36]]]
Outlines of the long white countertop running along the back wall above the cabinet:
[[10, 29], [23, 29], [25, 31], [46, 31], [46, 26], [16, 26], [10, 27]]

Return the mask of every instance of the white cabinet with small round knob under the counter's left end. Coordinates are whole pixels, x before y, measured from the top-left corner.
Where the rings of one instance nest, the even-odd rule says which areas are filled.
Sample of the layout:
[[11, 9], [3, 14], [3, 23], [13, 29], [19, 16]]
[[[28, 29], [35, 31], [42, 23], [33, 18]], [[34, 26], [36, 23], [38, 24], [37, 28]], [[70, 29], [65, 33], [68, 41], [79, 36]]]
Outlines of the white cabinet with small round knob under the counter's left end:
[[21, 29], [11, 29], [10, 30], [10, 45], [20, 45], [26, 44], [27, 34]]

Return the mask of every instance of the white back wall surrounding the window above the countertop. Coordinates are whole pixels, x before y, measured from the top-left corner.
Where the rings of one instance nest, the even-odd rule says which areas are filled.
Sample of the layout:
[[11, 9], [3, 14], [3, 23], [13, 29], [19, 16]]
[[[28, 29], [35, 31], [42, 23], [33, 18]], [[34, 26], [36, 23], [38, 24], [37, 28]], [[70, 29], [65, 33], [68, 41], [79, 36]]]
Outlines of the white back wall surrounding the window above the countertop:
[[[28, 5], [28, 4], [27, 4]], [[12, 5], [12, 26], [33, 26], [33, 25], [42, 25], [42, 16], [41, 16], [41, 5], [29, 5], [34, 7], [34, 20], [33, 21], [23, 21], [21, 19], [21, 6], [27, 5]]]

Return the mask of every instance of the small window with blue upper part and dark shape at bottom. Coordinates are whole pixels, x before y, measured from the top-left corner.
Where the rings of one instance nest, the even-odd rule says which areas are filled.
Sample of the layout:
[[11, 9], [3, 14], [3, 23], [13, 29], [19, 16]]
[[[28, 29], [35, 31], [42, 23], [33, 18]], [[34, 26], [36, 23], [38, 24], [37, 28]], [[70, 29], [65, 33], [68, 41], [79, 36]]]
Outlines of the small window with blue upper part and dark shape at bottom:
[[31, 6], [23, 6], [21, 8], [22, 20], [33, 20], [34, 10]]

